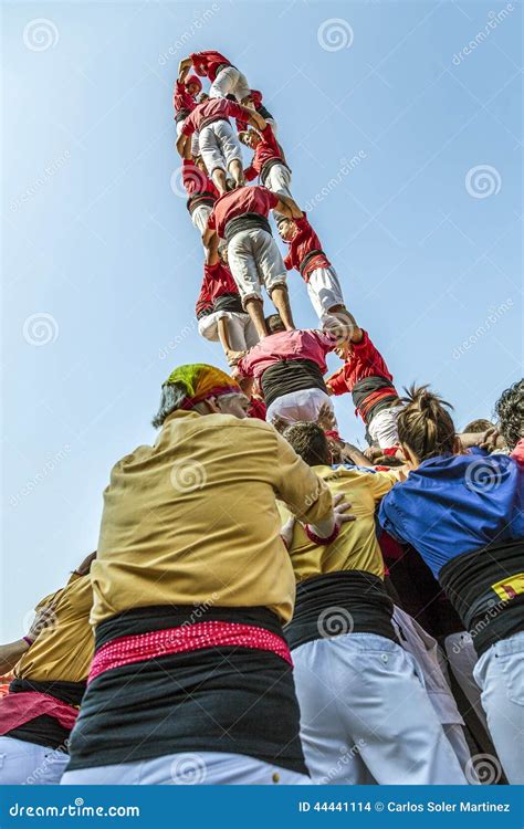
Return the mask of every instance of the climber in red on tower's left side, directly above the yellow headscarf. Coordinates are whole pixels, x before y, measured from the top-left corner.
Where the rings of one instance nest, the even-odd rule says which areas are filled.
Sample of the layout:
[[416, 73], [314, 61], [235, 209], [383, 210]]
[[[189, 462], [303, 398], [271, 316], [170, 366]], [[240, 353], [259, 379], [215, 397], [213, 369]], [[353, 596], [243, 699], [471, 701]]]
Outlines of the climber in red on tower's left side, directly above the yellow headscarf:
[[217, 235], [211, 238], [207, 250], [196, 314], [198, 333], [211, 342], [220, 340], [227, 357], [259, 342], [256, 328], [242, 307], [239, 288], [228, 267], [228, 249], [223, 244], [219, 246]]

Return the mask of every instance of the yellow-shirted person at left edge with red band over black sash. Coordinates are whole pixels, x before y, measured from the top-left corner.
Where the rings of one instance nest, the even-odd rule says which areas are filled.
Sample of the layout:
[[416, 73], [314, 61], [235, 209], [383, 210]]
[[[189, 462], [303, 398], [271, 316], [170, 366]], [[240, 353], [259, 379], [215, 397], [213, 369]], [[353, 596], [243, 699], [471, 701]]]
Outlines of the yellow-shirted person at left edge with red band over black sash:
[[65, 587], [35, 608], [28, 636], [0, 646], [0, 674], [13, 670], [0, 700], [0, 784], [60, 783], [94, 651], [90, 613], [92, 553]]

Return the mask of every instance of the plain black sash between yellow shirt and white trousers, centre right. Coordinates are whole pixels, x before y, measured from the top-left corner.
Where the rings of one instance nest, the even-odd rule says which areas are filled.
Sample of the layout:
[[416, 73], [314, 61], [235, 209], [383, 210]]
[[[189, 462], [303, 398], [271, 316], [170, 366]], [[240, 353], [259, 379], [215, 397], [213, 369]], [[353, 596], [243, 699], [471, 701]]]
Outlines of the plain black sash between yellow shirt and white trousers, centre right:
[[392, 601], [371, 573], [329, 573], [296, 587], [293, 619], [285, 628], [290, 649], [345, 633], [375, 633], [397, 641]]

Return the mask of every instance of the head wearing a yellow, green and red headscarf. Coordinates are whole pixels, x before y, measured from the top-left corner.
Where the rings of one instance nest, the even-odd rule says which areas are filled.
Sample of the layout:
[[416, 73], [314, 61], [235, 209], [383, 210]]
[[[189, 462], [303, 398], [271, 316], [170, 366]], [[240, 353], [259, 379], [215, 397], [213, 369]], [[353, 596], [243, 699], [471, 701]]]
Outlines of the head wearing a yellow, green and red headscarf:
[[248, 407], [249, 398], [237, 380], [214, 366], [195, 363], [171, 371], [161, 387], [153, 426], [159, 429], [169, 414], [180, 410], [245, 418]]

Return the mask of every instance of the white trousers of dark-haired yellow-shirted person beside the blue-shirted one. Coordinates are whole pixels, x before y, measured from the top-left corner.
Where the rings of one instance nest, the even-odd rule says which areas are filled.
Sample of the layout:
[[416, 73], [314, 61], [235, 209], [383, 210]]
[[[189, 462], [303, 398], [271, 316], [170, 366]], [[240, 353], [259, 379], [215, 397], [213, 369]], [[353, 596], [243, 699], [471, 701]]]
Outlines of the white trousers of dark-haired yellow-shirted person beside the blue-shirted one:
[[314, 783], [467, 785], [411, 654], [373, 633], [293, 650]]

